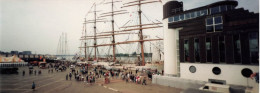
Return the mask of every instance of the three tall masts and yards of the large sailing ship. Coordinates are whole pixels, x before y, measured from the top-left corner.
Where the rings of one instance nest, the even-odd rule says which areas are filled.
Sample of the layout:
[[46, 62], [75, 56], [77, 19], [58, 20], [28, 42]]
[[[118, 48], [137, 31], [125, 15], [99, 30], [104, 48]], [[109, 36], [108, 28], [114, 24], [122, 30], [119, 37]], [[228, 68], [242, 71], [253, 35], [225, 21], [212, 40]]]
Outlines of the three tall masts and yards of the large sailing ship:
[[[98, 47], [112, 47], [112, 60], [108, 60], [109, 58], [107, 58], [108, 61], [116, 63], [118, 62], [117, 58], [116, 58], [116, 48], [117, 46], [120, 46], [122, 44], [132, 44], [132, 43], [139, 43], [138, 45], [140, 45], [140, 59], [137, 62], [138, 66], [145, 66], [146, 61], [145, 61], [145, 53], [144, 53], [144, 42], [150, 42], [150, 41], [159, 41], [159, 40], [163, 40], [162, 38], [156, 38], [156, 39], [147, 39], [147, 36], [145, 36], [143, 34], [143, 31], [146, 29], [154, 29], [154, 28], [161, 28], [162, 26], [162, 22], [160, 21], [156, 21], [156, 22], [151, 22], [151, 23], [147, 23], [147, 24], [143, 24], [142, 23], [142, 10], [141, 10], [141, 5], [143, 4], [151, 4], [151, 3], [158, 3], [160, 1], [150, 1], [150, 0], [136, 0], [136, 1], [131, 1], [131, 2], [127, 2], [124, 3], [123, 6], [121, 8], [128, 8], [128, 7], [138, 7], [138, 24], [137, 25], [128, 25], [127, 24], [130, 23], [130, 21], [127, 21], [123, 26], [119, 27], [119, 30], [115, 30], [115, 16], [117, 15], [121, 15], [121, 14], [127, 14], [129, 13], [127, 10], [115, 10], [114, 9], [114, 3], [117, 2], [121, 2], [121, 1], [114, 1], [111, 0], [111, 2], [106, 2], [103, 4], [111, 4], [111, 11], [110, 12], [106, 12], [106, 13], [101, 13], [99, 16], [97, 16], [97, 11], [96, 10], [96, 6], [97, 4], [94, 3], [93, 6], [91, 7], [91, 9], [93, 9], [92, 11], [89, 11], [87, 14], [89, 13], [93, 13], [94, 14], [94, 20], [87, 20], [87, 18], [85, 18], [84, 23], [83, 23], [83, 36], [81, 37], [80, 40], [82, 40], [82, 42], [84, 42], [84, 46], [79, 47], [80, 49], [84, 49], [85, 52], [85, 59], [84, 61], [87, 60], [94, 60], [94, 61], [99, 61], [104, 58], [100, 58], [97, 57], [97, 53], [98, 53]], [[107, 20], [106, 18], [110, 17], [111, 20]], [[104, 32], [100, 32], [97, 33], [97, 23], [99, 22], [111, 22], [111, 31], [104, 31]], [[87, 35], [87, 24], [93, 24], [93, 35]], [[138, 31], [138, 32], [137, 32]], [[116, 42], [115, 36], [116, 35], [138, 35], [138, 40], [126, 40], [126, 41], [121, 41], [121, 42]], [[112, 39], [111, 43], [106, 43], [106, 44], [100, 44], [97, 42], [97, 39]], [[93, 44], [90, 44], [89, 40], [93, 40]], [[88, 51], [89, 48], [94, 49], [94, 56], [91, 57], [91, 51]], [[157, 47], [158, 48], [158, 47]], [[161, 49], [159, 49], [159, 51], [162, 51]], [[160, 53], [160, 52], [159, 52]], [[161, 54], [161, 53], [160, 53]], [[108, 56], [110, 57], [110, 56]], [[139, 56], [137, 56], [139, 57]]]

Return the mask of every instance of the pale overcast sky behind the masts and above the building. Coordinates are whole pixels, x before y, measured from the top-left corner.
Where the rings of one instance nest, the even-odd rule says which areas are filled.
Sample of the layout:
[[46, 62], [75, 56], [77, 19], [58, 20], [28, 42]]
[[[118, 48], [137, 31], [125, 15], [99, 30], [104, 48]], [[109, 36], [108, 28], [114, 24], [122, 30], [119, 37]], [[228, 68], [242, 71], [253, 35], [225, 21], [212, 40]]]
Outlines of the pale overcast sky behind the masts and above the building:
[[[59, 38], [67, 33], [69, 54], [78, 53], [81, 46], [79, 40], [82, 36], [83, 21], [93, 19], [93, 13], [88, 13], [94, 2], [97, 3], [98, 12], [111, 11], [111, 6], [101, 4], [111, 0], [0, 0], [0, 51], [32, 51], [36, 54], [57, 54]], [[123, 0], [115, 4], [115, 10], [122, 10], [123, 3], [133, 0]], [[163, 2], [168, 0], [162, 0]], [[218, 0], [179, 0], [183, 1], [184, 9], [204, 6]], [[238, 7], [244, 7], [251, 12], [259, 12], [259, 0], [237, 0]], [[143, 5], [143, 23], [162, 22], [163, 3]], [[93, 10], [93, 9], [92, 9]], [[123, 8], [128, 14], [115, 16], [116, 30], [128, 20], [129, 24], [137, 23], [137, 8]], [[87, 15], [87, 16], [86, 16]], [[111, 20], [110, 18], [107, 18]], [[98, 23], [98, 32], [111, 31], [109, 22]], [[88, 35], [93, 34], [93, 24], [87, 24]], [[134, 32], [133, 32], [134, 33]], [[152, 29], [144, 31], [148, 38], [163, 38], [163, 30]], [[137, 40], [137, 35], [116, 36], [116, 42]], [[106, 44], [107, 40], [99, 40], [99, 44]], [[91, 44], [89, 41], [88, 44]], [[117, 46], [118, 53], [131, 53], [138, 50], [137, 43]], [[145, 44], [149, 51], [149, 43]], [[109, 47], [100, 48], [99, 52], [106, 52]], [[111, 49], [110, 49], [111, 50]]]

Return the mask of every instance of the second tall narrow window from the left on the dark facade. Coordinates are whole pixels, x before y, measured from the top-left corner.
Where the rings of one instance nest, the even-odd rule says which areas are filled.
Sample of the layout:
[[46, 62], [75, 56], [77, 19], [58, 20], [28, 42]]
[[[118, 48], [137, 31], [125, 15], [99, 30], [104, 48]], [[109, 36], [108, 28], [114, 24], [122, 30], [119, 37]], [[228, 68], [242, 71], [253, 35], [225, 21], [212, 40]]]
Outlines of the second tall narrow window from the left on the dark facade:
[[194, 53], [195, 53], [195, 62], [200, 62], [200, 41], [198, 38], [194, 38]]

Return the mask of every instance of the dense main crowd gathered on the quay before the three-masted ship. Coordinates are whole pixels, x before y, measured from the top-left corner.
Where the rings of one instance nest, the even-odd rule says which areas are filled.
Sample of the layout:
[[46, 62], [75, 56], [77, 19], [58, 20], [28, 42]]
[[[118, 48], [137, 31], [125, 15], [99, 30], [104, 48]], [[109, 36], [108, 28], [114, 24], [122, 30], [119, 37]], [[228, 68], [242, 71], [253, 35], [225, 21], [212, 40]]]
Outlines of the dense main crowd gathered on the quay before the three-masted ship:
[[[152, 75], [150, 71], [139, 71], [136, 69], [135, 73], [132, 70], [128, 69], [104, 69], [100, 66], [88, 67], [86, 65], [78, 66], [79, 70], [71, 71], [66, 74], [66, 80], [71, 80], [74, 76], [76, 81], [84, 81], [87, 84], [93, 84], [96, 82], [96, 79], [102, 79], [105, 84], [110, 83], [111, 79], [122, 79], [128, 82], [133, 82], [136, 84], [147, 85], [147, 79], [151, 79]], [[74, 69], [73, 69], [74, 70]], [[157, 71], [157, 70], [156, 70]], [[148, 75], [148, 77], [147, 77]]]

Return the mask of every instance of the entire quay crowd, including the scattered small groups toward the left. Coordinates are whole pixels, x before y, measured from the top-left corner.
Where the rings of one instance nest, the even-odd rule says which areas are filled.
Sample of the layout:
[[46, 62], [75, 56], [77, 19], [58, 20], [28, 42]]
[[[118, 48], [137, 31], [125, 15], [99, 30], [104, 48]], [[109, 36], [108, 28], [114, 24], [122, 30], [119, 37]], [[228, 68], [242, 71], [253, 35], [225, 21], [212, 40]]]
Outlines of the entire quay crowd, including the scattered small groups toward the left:
[[[94, 84], [97, 80], [101, 80], [104, 84], [109, 84], [111, 80], [121, 79], [126, 83], [136, 83], [147, 85], [147, 80], [152, 78], [152, 73], [150, 70], [139, 69], [134, 70], [130, 69], [105, 69], [102, 66], [89, 66], [89, 65], [79, 65], [75, 67], [71, 67], [71, 63], [59, 62], [59, 63], [48, 63], [48, 73], [63, 72], [66, 71], [67, 68], [70, 68], [70, 72], [66, 74], [66, 80], [74, 80], [83, 81], [87, 84]], [[77, 69], [76, 69], [77, 68]], [[29, 75], [34, 74], [40, 75], [42, 72], [40, 69], [33, 70], [29, 69]], [[133, 73], [134, 72], [134, 73]], [[157, 70], [155, 71], [157, 74]], [[162, 72], [163, 73], [163, 72]], [[23, 70], [23, 76], [25, 75], [25, 71]], [[147, 77], [148, 76], [148, 77]], [[32, 84], [32, 89], [36, 88], [35, 82]]]

